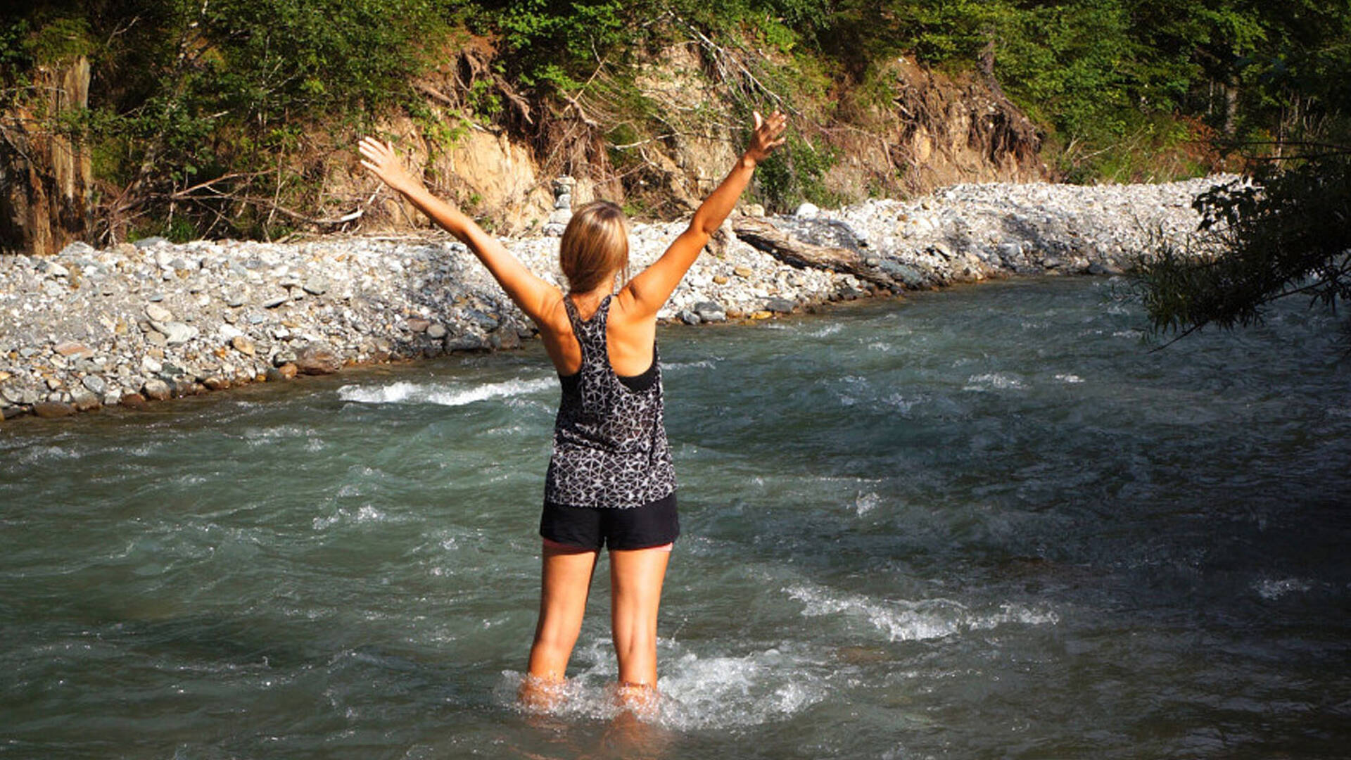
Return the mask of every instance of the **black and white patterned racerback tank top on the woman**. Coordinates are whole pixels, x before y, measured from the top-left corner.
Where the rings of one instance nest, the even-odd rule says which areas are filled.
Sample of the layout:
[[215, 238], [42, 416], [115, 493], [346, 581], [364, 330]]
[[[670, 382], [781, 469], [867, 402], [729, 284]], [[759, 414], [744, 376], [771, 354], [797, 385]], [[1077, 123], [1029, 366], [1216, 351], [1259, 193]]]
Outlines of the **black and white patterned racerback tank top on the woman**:
[[609, 302], [605, 296], [596, 314], [582, 320], [571, 298], [563, 299], [582, 349], [582, 368], [559, 376], [563, 398], [544, 479], [544, 500], [553, 504], [630, 508], [676, 490], [657, 345], [647, 372], [615, 375], [605, 343]]

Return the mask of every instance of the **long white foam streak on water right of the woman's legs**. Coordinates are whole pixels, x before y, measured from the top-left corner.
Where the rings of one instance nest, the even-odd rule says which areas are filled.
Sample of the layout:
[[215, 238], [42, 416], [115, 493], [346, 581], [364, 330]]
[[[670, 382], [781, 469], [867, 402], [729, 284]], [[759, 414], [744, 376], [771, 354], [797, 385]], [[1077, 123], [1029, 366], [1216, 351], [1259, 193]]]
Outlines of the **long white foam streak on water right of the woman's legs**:
[[1055, 625], [1050, 609], [1004, 603], [997, 609], [971, 610], [951, 599], [873, 599], [859, 594], [838, 594], [828, 588], [798, 584], [784, 588], [802, 602], [802, 615], [848, 615], [862, 618], [885, 633], [889, 641], [946, 638], [970, 630], [985, 630], [1005, 623]]

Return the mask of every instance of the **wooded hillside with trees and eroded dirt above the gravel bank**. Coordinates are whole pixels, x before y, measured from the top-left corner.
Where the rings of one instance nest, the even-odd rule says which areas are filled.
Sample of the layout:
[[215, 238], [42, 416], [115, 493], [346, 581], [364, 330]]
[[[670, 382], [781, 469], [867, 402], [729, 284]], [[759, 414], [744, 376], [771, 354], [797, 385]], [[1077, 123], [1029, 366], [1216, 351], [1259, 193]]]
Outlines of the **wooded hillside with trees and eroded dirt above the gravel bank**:
[[1343, 130], [1351, 7], [1294, 0], [86, 0], [0, 12], [0, 249], [416, 223], [363, 131], [503, 231], [549, 181], [689, 210], [751, 108], [770, 210], [1163, 180]]

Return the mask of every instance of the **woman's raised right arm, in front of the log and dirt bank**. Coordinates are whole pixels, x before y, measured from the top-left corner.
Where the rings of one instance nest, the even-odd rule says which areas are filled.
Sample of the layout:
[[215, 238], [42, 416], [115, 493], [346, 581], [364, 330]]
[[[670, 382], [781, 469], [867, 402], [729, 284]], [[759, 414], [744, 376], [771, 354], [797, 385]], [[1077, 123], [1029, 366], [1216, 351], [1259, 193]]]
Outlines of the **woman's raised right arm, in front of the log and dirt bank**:
[[694, 260], [698, 258], [698, 253], [708, 245], [708, 239], [732, 212], [736, 199], [742, 196], [742, 191], [751, 181], [751, 174], [755, 173], [755, 165], [773, 153], [775, 147], [784, 145], [785, 138], [781, 135], [786, 126], [788, 116], [777, 110], [769, 115], [769, 119], [762, 118], [758, 111], [755, 112], [755, 133], [751, 134], [751, 145], [732, 166], [723, 184], [717, 185], [717, 189], [704, 200], [698, 211], [694, 212], [694, 218], [690, 219], [689, 229], [676, 238], [666, 253], [630, 280], [628, 285], [620, 291], [619, 298], [628, 300], [626, 311], [650, 316], [655, 315], [666, 303], [681, 277], [689, 272]]

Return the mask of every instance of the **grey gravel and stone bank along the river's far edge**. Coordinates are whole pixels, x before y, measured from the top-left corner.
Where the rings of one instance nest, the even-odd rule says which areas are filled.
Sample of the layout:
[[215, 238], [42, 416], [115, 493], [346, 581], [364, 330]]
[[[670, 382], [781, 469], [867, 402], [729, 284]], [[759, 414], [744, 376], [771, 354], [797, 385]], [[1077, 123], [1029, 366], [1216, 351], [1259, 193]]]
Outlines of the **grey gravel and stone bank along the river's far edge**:
[[[909, 201], [770, 218], [855, 252], [898, 287], [1036, 273], [1115, 273], [1151, 235], [1196, 229], [1192, 199], [1224, 177], [1156, 185], [954, 185]], [[684, 222], [635, 224], [634, 269]], [[785, 264], [730, 229], [677, 289], [665, 319], [757, 319], [875, 292], [850, 273]], [[557, 238], [507, 241], [559, 283]], [[323, 238], [84, 243], [0, 258], [0, 411], [62, 417], [139, 406], [297, 372], [511, 349], [528, 320], [458, 242]]]

